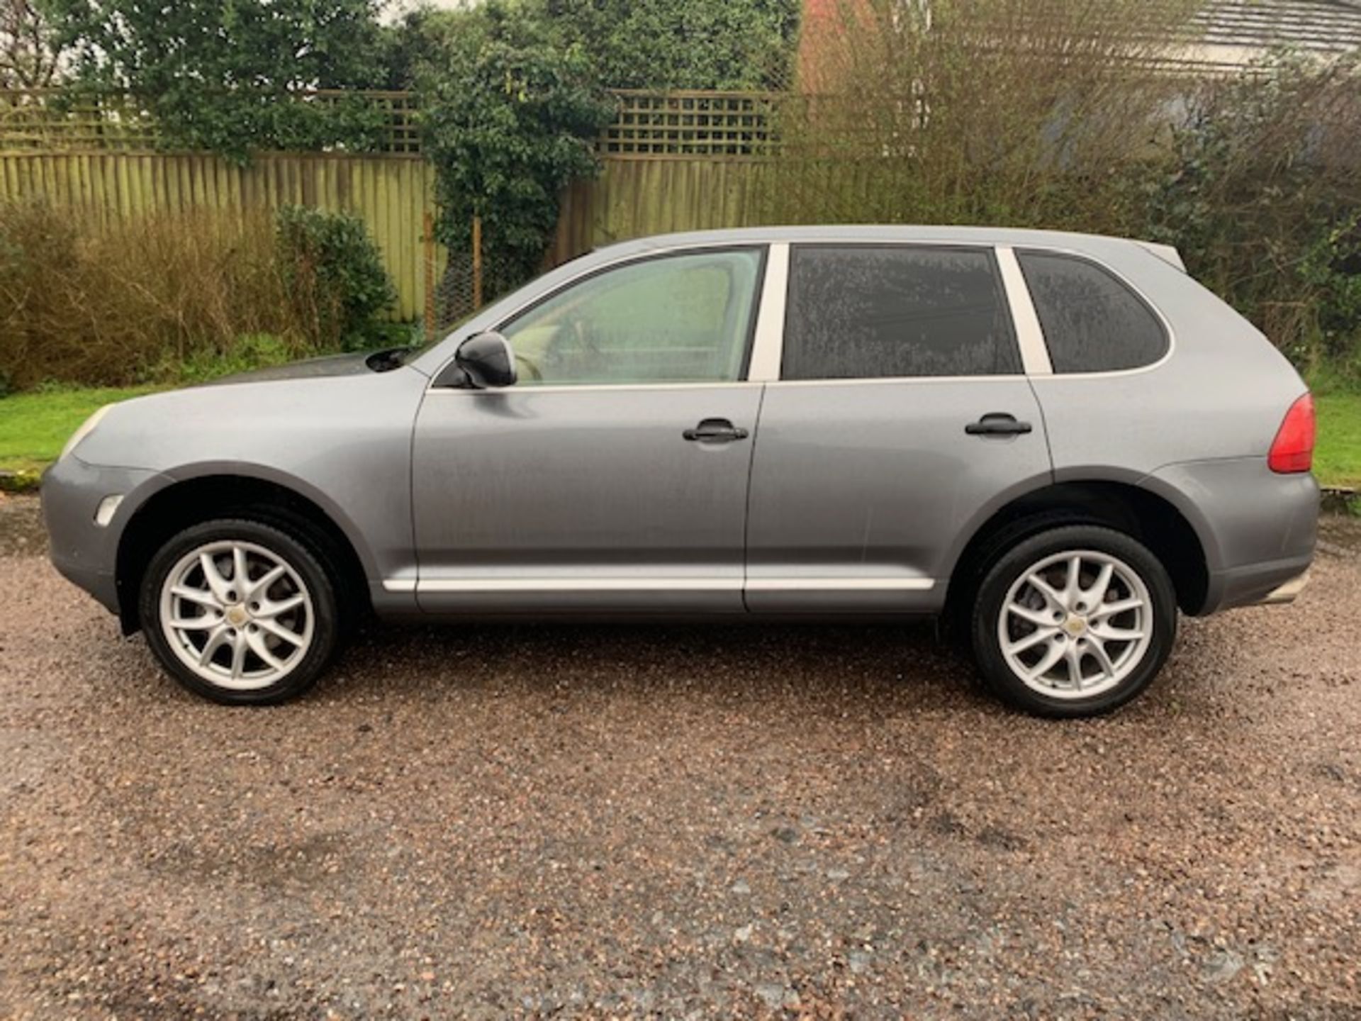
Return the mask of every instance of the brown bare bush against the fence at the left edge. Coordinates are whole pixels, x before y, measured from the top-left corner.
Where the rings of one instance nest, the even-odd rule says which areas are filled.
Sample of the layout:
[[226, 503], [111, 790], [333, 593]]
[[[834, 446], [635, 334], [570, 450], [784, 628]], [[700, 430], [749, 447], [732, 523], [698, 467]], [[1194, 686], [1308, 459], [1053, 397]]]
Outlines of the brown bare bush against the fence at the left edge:
[[267, 216], [106, 225], [69, 208], [0, 208], [0, 374], [10, 387], [169, 378], [253, 334], [305, 350]]

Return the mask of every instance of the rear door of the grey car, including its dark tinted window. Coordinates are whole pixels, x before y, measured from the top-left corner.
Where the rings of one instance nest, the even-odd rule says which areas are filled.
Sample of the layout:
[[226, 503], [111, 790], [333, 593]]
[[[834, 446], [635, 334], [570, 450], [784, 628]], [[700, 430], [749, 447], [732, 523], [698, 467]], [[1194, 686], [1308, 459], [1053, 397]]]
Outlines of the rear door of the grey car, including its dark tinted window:
[[750, 610], [936, 611], [969, 530], [1052, 478], [1006, 294], [988, 246], [791, 246]]

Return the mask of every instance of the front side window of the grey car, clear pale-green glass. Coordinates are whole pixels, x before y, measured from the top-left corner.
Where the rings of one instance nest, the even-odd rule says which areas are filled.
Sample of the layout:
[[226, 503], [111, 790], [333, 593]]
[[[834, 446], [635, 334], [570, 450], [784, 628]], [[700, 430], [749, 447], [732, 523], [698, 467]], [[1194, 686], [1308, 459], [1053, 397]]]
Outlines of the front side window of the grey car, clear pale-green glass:
[[501, 328], [517, 385], [742, 378], [762, 249], [664, 256], [606, 270]]

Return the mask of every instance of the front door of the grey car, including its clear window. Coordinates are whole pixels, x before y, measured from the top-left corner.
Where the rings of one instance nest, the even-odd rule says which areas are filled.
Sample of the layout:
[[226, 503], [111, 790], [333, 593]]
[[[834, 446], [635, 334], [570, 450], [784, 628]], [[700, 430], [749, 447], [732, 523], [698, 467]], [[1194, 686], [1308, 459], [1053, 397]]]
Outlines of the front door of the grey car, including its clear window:
[[753, 246], [608, 267], [501, 324], [513, 387], [426, 395], [423, 610], [743, 610], [762, 263]]

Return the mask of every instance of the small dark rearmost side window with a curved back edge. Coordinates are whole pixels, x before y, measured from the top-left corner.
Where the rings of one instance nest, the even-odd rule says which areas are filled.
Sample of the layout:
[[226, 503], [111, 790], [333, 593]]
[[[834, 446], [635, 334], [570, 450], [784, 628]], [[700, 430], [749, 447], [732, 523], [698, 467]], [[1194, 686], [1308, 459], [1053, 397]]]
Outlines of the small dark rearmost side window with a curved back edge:
[[1162, 323], [1139, 295], [1096, 263], [1017, 252], [1055, 372], [1115, 372], [1168, 351]]

